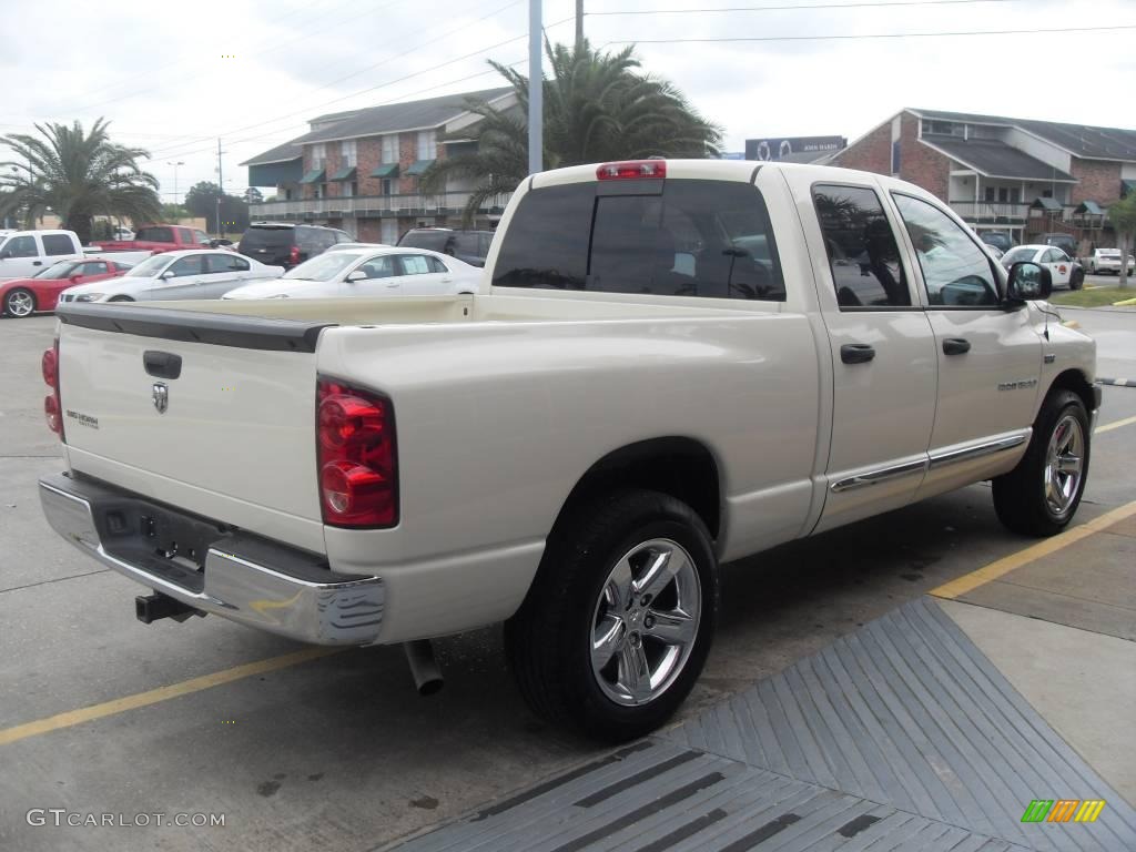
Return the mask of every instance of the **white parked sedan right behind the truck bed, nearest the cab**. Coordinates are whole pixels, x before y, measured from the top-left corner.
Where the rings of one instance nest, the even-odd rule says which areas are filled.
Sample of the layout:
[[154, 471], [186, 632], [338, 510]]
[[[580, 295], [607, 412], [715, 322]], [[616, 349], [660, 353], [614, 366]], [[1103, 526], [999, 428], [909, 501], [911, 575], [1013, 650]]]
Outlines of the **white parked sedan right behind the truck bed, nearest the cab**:
[[276, 281], [237, 287], [225, 299], [327, 299], [476, 293], [483, 270], [425, 249], [371, 245], [331, 249]]

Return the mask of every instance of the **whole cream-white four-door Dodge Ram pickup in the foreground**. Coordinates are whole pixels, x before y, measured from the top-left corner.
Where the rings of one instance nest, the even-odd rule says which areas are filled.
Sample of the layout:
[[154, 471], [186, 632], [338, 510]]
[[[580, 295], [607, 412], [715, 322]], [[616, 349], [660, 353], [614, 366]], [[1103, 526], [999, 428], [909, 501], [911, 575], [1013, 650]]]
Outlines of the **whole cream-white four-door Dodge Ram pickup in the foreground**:
[[916, 186], [578, 166], [500, 232], [478, 294], [61, 306], [49, 521], [144, 621], [406, 643], [424, 690], [431, 637], [504, 621], [538, 713], [624, 740], [720, 562], [983, 479], [1013, 531], [1077, 511], [1095, 343]]

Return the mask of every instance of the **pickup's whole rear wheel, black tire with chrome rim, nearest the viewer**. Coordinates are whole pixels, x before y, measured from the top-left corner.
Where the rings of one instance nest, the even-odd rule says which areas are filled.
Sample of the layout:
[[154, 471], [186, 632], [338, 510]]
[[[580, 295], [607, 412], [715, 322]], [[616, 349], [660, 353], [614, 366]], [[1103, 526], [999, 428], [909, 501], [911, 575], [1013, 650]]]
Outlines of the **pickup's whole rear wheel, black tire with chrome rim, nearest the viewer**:
[[702, 519], [628, 491], [562, 519], [506, 624], [533, 710], [607, 741], [650, 733], [682, 704], [710, 650], [717, 560]]

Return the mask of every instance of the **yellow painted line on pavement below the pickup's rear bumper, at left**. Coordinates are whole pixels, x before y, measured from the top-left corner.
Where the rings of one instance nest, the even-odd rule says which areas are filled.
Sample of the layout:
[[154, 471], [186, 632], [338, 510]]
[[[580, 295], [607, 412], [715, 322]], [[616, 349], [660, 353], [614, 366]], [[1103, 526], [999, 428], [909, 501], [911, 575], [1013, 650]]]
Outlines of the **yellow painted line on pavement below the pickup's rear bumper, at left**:
[[52, 730], [59, 730], [60, 728], [69, 728], [75, 725], [82, 725], [85, 721], [93, 721], [94, 719], [103, 719], [108, 716], [116, 716], [117, 713], [124, 713], [127, 710], [136, 710], [137, 708], [147, 707], [148, 704], [157, 704], [161, 701], [169, 701], [170, 699], [189, 695], [193, 692], [201, 692], [202, 690], [209, 690], [214, 686], [233, 683], [234, 680], [241, 680], [242, 678], [252, 677], [253, 675], [262, 675], [266, 671], [276, 671], [290, 666], [298, 666], [301, 662], [308, 662], [309, 660], [318, 660], [320, 657], [327, 657], [328, 654], [339, 653], [343, 650], [345, 649], [323, 646], [308, 648], [303, 651], [295, 651], [294, 653], [283, 654], [281, 657], [270, 657], [267, 660], [258, 660], [257, 662], [248, 662], [243, 666], [234, 666], [231, 669], [224, 669], [223, 671], [215, 671], [211, 675], [194, 677], [189, 680], [183, 680], [179, 684], [159, 686], [157, 690], [150, 690], [149, 692], [139, 692], [134, 695], [127, 695], [122, 699], [105, 701], [101, 704], [91, 704], [90, 707], [83, 707], [78, 710], [68, 710], [65, 713], [49, 716], [47, 719], [37, 719], [35, 721], [24, 722], [23, 725], [16, 725], [15, 727], [0, 730], [0, 745], [8, 745], [9, 743], [26, 740], [30, 736], [49, 734]]

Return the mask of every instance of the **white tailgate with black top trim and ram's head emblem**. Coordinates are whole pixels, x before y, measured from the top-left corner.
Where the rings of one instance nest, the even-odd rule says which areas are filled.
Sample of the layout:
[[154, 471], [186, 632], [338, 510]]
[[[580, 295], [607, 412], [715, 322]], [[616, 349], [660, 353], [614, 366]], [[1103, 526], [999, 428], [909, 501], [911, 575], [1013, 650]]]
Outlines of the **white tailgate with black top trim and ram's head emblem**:
[[323, 552], [316, 341], [326, 323], [61, 306], [73, 469]]

